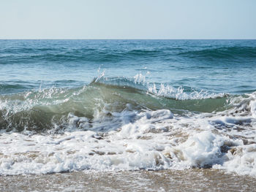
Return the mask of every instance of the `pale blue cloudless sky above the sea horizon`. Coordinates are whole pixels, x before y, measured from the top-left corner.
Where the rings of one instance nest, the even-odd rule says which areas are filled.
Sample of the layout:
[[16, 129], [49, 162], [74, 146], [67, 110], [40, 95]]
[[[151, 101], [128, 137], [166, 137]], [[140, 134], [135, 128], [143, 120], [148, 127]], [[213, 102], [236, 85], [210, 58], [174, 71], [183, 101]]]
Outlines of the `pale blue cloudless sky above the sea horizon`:
[[256, 0], [0, 0], [0, 39], [256, 39]]

